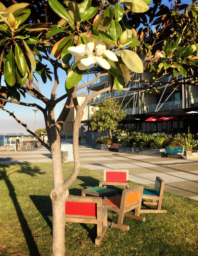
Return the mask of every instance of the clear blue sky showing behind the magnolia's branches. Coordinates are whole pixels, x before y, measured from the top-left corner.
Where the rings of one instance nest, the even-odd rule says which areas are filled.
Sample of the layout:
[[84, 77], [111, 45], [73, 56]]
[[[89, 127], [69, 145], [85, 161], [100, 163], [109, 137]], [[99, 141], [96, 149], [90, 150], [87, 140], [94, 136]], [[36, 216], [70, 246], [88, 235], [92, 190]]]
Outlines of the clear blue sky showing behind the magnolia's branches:
[[[173, 2], [173, 1], [172, 1]], [[181, 0], [182, 4], [187, 3], [189, 4], [192, 1], [189, 0]], [[170, 5], [168, 0], [162, 1], [162, 4], [165, 5]], [[35, 75], [37, 79], [39, 79], [39, 87], [41, 89], [41, 92], [43, 95], [45, 95], [48, 99], [50, 98], [51, 90], [54, 84], [54, 81], [47, 80], [46, 84], [43, 84], [42, 79], [39, 77], [39, 75]], [[52, 76], [53, 77], [53, 76]], [[91, 80], [94, 77], [92, 74], [89, 76], [89, 80]], [[66, 80], [66, 74], [60, 70], [59, 71], [59, 85], [57, 89], [57, 98], [59, 98], [61, 95], [65, 93], [65, 80]], [[86, 83], [88, 82], [87, 77], [83, 77], [83, 82]], [[82, 84], [83, 82], [80, 82], [79, 84]], [[2, 81], [2, 85], [4, 85]], [[80, 92], [86, 92], [86, 89], [84, 90], [79, 90], [78, 93]], [[34, 98], [31, 96], [27, 95], [26, 99], [23, 100], [23, 96], [21, 96], [21, 101], [23, 102], [28, 102], [28, 103], [39, 103], [40, 101], [36, 101]], [[60, 114], [61, 109], [63, 108], [63, 104], [65, 101], [61, 101], [59, 104], [57, 104], [55, 108], [55, 119], [57, 119], [58, 115]], [[41, 102], [39, 103], [41, 104]], [[45, 107], [44, 105], [41, 104], [41, 106]], [[30, 130], [34, 130], [34, 117], [35, 113], [31, 107], [24, 107], [16, 104], [6, 104], [5, 109], [9, 110], [10, 112], [14, 111], [14, 114], [16, 117], [23, 123], [27, 124], [28, 128]], [[26, 129], [21, 126], [20, 124], [17, 123], [16, 120], [14, 120], [13, 117], [9, 116], [8, 113], [5, 111], [0, 112], [1, 115], [1, 122], [0, 122], [0, 134], [4, 133], [26, 133]], [[36, 112], [36, 129], [39, 128], [44, 128], [45, 123], [44, 123], [44, 118], [43, 114], [40, 110]], [[18, 130], [19, 128], [19, 130]]]

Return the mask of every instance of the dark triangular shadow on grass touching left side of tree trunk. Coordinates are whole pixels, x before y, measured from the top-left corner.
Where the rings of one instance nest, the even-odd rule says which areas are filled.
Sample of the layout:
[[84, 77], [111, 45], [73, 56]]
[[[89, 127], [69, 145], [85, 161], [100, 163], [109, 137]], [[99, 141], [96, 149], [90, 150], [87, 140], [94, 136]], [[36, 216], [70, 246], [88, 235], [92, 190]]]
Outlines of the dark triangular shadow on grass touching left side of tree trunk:
[[45, 219], [47, 225], [52, 230], [52, 221], [48, 216], [52, 216], [52, 201], [49, 196], [35, 196], [30, 195], [30, 199], [35, 205], [36, 209], [40, 212], [40, 214]]

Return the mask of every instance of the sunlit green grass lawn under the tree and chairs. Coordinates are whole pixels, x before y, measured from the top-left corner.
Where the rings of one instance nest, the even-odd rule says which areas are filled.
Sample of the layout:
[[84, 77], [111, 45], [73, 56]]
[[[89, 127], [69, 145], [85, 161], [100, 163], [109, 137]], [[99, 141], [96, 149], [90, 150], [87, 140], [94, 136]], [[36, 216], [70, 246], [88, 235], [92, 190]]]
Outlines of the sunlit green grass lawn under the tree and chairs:
[[[73, 165], [63, 164], [63, 168], [66, 179]], [[51, 255], [52, 164], [1, 165], [0, 177], [0, 255]], [[81, 195], [82, 189], [98, 186], [101, 180], [103, 173], [81, 168], [69, 193]], [[137, 185], [131, 182], [131, 187]], [[130, 230], [107, 230], [100, 246], [94, 244], [94, 225], [67, 223], [72, 229], [65, 227], [65, 255], [198, 255], [198, 201], [165, 191], [162, 209], [167, 214], [141, 214], [146, 222], [125, 217]], [[117, 218], [108, 211], [109, 220], [117, 222]]]

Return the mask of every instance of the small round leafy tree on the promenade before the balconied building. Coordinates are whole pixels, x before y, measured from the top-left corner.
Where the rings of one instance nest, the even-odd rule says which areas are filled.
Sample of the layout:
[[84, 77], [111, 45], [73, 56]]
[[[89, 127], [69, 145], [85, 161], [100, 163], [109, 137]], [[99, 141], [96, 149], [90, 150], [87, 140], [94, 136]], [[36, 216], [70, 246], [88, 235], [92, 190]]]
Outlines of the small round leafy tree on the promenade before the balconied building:
[[119, 100], [113, 98], [103, 99], [101, 104], [97, 104], [98, 110], [95, 111], [91, 127], [98, 129], [99, 132], [108, 131], [112, 138], [112, 130], [115, 130], [119, 121], [126, 116], [126, 111], [121, 110]]

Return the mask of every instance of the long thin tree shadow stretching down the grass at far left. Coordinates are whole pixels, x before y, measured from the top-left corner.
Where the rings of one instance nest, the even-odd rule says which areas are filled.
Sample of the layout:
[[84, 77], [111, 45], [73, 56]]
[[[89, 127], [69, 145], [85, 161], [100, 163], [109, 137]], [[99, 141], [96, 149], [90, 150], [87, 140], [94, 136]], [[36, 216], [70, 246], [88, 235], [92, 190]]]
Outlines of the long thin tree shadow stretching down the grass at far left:
[[[9, 160], [7, 160], [7, 161], [9, 161]], [[9, 175], [7, 174], [6, 169], [9, 169], [9, 166], [11, 166], [11, 165], [1, 165], [0, 179], [5, 181], [5, 184], [8, 188], [9, 196], [10, 196], [11, 200], [13, 201], [13, 205], [15, 207], [17, 217], [18, 217], [19, 223], [21, 225], [21, 229], [24, 234], [24, 238], [26, 240], [26, 243], [27, 243], [27, 246], [28, 246], [28, 249], [30, 252], [30, 256], [41, 256], [39, 249], [34, 241], [34, 237], [32, 236], [31, 229], [28, 226], [28, 222], [27, 222], [25, 216], [23, 215], [23, 211], [22, 211], [22, 209], [19, 205], [19, 202], [17, 200], [17, 195], [15, 193], [15, 187], [11, 183], [11, 181], [9, 179]], [[20, 167], [21, 168], [20, 168], [20, 170], [18, 170], [18, 173], [25, 173], [25, 174], [28, 174], [31, 176], [34, 176], [35, 173], [38, 174], [38, 171], [39, 171], [38, 168], [32, 169], [32, 166], [30, 164], [21, 164]]]

